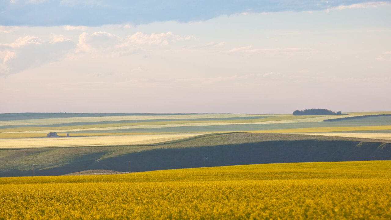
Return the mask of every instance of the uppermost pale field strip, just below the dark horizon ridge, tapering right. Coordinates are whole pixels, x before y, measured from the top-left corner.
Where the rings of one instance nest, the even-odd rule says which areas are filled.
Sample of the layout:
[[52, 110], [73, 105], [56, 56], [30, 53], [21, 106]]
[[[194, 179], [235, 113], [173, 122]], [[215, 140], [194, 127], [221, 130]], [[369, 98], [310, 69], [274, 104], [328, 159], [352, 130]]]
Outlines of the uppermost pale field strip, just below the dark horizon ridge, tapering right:
[[[226, 117], [264, 117], [273, 115], [262, 114], [196, 114], [196, 115], [126, 115], [126, 116], [103, 116], [103, 117], [69, 117], [69, 118], [48, 118], [48, 119], [27, 119], [14, 121], [0, 121], [2, 125], [22, 124], [63, 124], [82, 123], [99, 121], [127, 121], [127, 120], [156, 120], [156, 119], [200, 119], [200, 118], [226, 118]], [[4, 124], [3, 124], [4, 123]]]

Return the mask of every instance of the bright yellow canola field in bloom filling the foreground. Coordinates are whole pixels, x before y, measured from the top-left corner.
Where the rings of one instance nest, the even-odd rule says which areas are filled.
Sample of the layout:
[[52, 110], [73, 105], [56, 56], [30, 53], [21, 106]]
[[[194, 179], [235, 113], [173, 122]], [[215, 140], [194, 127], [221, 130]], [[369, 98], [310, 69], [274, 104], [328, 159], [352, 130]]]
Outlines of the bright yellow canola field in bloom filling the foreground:
[[391, 219], [390, 164], [0, 178], [0, 219]]

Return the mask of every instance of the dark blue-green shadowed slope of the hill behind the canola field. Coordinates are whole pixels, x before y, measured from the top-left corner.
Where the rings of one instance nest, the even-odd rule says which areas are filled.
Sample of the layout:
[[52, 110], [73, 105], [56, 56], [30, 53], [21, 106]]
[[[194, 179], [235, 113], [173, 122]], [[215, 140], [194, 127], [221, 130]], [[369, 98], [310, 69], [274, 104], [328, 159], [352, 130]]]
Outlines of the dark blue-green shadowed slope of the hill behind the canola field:
[[[68, 148], [70, 151], [72, 148]], [[91, 152], [82, 159], [61, 166], [43, 168], [35, 175], [64, 175], [84, 170], [115, 170], [118, 172], [230, 166], [283, 162], [391, 160], [391, 143], [360, 141], [261, 141], [188, 148], [159, 148], [102, 157]], [[205, 158], [205, 159], [204, 159]], [[204, 165], [205, 162], [205, 165]], [[0, 172], [0, 176], [32, 175], [18, 168]]]

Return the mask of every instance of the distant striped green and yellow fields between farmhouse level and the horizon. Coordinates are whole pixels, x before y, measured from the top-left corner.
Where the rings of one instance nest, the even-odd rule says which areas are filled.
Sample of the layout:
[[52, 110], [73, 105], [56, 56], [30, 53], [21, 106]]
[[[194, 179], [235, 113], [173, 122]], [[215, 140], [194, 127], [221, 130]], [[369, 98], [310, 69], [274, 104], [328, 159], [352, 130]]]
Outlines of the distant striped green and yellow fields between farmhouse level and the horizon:
[[[354, 118], [358, 115], [387, 113], [389, 112], [355, 112], [349, 115], [0, 114], [2, 120], [0, 121], [0, 139], [45, 137], [49, 132], [57, 132], [63, 136], [66, 133], [70, 133], [71, 136], [221, 132], [357, 133], [363, 131], [362, 133], [377, 133], [376, 130], [381, 130], [381, 133], [390, 133], [387, 131], [391, 130], [391, 116]], [[345, 117], [347, 119], [341, 121], [324, 121]]]

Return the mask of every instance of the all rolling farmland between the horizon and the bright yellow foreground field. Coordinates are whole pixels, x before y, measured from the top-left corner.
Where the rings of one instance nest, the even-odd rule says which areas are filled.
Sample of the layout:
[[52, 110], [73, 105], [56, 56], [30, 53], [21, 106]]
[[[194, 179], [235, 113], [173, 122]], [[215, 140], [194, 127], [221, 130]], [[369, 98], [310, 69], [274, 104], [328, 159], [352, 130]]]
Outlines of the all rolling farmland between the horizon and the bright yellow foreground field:
[[[32, 164], [41, 175], [126, 171], [128, 160], [135, 163], [133, 171], [200, 167], [204, 157], [211, 166], [283, 162], [285, 157], [291, 162], [387, 160], [391, 116], [350, 117], [375, 113], [388, 112], [0, 114], [0, 176], [31, 175]], [[324, 121], [335, 118], [340, 120]], [[49, 132], [61, 137], [46, 137]]]

